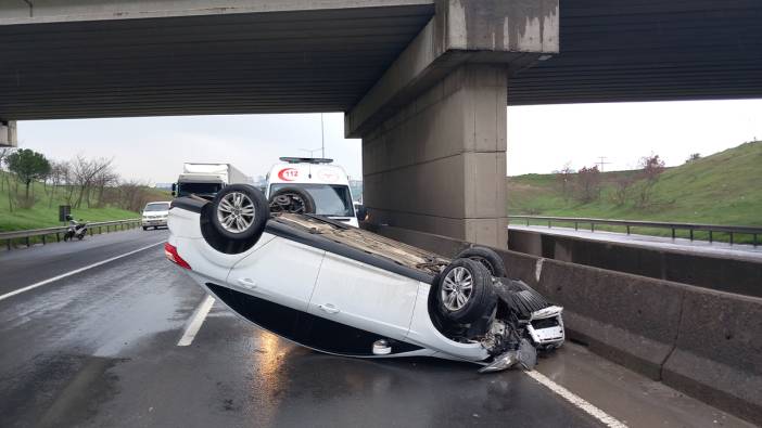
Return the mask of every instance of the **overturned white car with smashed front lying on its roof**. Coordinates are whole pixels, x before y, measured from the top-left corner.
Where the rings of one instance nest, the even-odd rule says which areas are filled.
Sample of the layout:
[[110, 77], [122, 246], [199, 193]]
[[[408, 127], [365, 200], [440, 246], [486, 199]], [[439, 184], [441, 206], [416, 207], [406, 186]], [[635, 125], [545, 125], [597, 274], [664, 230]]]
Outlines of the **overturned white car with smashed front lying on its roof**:
[[169, 210], [169, 260], [257, 326], [340, 355], [428, 355], [483, 372], [561, 346], [561, 308], [507, 277], [487, 248], [456, 259], [309, 213], [299, 189], [244, 184]]

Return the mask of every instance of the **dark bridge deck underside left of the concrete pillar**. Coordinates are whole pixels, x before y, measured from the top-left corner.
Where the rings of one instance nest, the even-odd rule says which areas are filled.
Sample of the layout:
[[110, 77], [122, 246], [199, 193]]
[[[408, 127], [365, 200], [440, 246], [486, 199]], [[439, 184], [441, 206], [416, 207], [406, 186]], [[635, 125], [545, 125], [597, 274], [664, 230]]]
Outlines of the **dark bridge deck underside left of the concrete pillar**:
[[433, 5], [0, 26], [5, 119], [339, 112]]

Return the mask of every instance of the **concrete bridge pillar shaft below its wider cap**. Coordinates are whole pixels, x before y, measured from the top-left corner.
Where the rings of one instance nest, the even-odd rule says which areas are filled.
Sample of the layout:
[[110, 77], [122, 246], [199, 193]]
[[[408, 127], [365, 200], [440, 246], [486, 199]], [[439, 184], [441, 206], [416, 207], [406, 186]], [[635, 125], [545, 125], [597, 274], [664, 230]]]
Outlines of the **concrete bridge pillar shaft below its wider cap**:
[[363, 135], [372, 222], [506, 245], [507, 75], [463, 64]]

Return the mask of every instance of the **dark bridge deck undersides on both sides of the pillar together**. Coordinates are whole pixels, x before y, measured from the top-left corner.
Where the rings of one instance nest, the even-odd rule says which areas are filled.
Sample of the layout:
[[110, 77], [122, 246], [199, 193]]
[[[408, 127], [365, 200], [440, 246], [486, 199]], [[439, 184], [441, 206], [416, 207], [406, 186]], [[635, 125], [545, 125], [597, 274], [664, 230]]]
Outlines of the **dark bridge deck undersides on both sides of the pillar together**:
[[[0, 118], [348, 111], [433, 4], [0, 25]], [[510, 105], [762, 98], [759, 0], [564, 0]]]

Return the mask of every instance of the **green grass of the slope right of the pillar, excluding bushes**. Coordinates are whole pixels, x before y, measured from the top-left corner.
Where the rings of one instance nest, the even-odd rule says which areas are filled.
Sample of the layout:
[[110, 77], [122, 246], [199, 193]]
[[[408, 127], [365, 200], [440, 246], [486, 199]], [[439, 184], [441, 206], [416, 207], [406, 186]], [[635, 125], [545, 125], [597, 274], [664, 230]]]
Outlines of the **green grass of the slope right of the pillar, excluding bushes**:
[[[510, 177], [507, 180], [508, 212], [762, 226], [762, 141], [741, 144], [669, 168], [653, 186], [652, 197], [646, 207], [636, 204], [636, 194], [643, 181], [631, 187], [624, 204], [614, 202], [615, 180], [622, 174], [633, 173], [635, 171], [602, 173], [600, 197], [586, 204], [564, 197], [555, 174]], [[638, 229], [636, 232], [670, 234], [669, 230]], [[717, 235], [717, 238], [722, 238]], [[687, 236], [687, 233], [681, 236]], [[707, 238], [703, 233], [696, 236]], [[750, 237], [746, 236], [734, 238], [750, 242]]]

